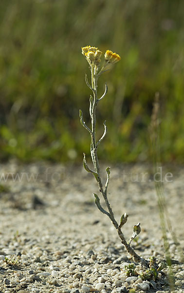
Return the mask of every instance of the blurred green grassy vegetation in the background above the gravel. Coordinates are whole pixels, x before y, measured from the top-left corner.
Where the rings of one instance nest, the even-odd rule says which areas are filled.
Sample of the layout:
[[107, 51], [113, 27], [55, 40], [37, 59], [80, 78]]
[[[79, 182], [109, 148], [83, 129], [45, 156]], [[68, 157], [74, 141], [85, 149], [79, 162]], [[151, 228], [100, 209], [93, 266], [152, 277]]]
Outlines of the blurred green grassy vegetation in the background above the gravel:
[[184, 163], [183, 0], [1, 0], [0, 159], [81, 161], [90, 153], [90, 71], [81, 46], [117, 52], [99, 80], [104, 160], [150, 159], [147, 128], [161, 99], [164, 161]]

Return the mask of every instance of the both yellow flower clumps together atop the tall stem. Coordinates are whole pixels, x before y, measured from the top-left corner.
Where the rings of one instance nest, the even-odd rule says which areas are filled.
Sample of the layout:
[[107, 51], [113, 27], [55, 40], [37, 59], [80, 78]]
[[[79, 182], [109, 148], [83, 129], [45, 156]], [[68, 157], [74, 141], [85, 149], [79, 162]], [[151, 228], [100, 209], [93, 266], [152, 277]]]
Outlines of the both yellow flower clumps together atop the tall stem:
[[[98, 50], [98, 48], [91, 46], [82, 47], [82, 54], [86, 57], [90, 65], [99, 65], [102, 52]], [[118, 54], [113, 53], [110, 50], [106, 51], [105, 61], [107, 63], [116, 63], [120, 60], [121, 57]]]

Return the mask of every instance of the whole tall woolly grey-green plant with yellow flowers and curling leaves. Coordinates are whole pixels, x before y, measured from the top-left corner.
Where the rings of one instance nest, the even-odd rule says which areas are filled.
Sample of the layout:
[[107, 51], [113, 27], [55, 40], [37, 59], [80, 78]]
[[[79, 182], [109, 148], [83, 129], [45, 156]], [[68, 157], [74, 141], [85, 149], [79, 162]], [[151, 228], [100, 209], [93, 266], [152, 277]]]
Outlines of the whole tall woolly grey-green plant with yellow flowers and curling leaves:
[[[146, 267], [149, 267], [149, 262], [147, 260], [145, 260], [144, 258], [140, 257], [133, 250], [133, 248], [130, 246], [131, 241], [141, 232], [140, 223], [133, 226], [133, 234], [132, 234], [131, 238], [129, 239], [129, 241], [127, 242], [127, 240], [125, 239], [124, 234], [122, 232], [122, 227], [127, 222], [128, 214], [123, 213], [119, 225], [118, 225], [117, 221], [115, 220], [113, 211], [110, 207], [110, 203], [108, 200], [108, 195], [107, 195], [107, 190], [108, 190], [108, 185], [109, 185], [109, 180], [110, 180], [110, 167], [106, 168], [107, 181], [106, 181], [105, 186], [103, 186], [101, 175], [100, 175], [100, 166], [99, 166], [99, 162], [98, 162], [98, 155], [97, 155], [98, 146], [100, 145], [100, 143], [102, 142], [102, 140], [106, 136], [107, 126], [106, 126], [106, 121], [105, 121], [104, 122], [104, 133], [99, 140], [96, 140], [96, 107], [97, 107], [98, 103], [100, 101], [102, 101], [102, 99], [105, 97], [105, 95], [108, 92], [108, 86], [106, 84], [104, 94], [100, 98], [98, 98], [98, 93], [97, 93], [98, 78], [101, 76], [102, 73], [107, 71], [108, 65], [113, 64], [113, 63], [117, 63], [118, 61], [120, 61], [121, 58], [118, 54], [113, 53], [110, 50], [107, 50], [105, 53], [105, 62], [103, 64], [102, 68], [100, 69], [100, 63], [101, 63], [100, 58], [101, 58], [102, 52], [100, 50], [98, 50], [98, 48], [91, 47], [91, 46], [83, 47], [82, 54], [84, 55], [87, 62], [89, 63], [90, 70], [91, 70], [91, 84], [88, 81], [87, 74], [85, 75], [86, 84], [92, 90], [92, 95], [90, 95], [90, 117], [91, 117], [91, 123], [92, 123], [91, 128], [88, 127], [86, 125], [86, 123], [84, 122], [83, 113], [81, 110], [79, 110], [79, 116], [80, 116], [80, 122], [81, 122], [82, 126], [86, 130], [88, 130], [91, 135], [91, 157], [92, 157], [92, 164], [93, 164], [94, 169], [92, 170], [90, 167], [88, 167], [88, 165], [86, 163], [85, 153], [84, 153], [84, 159], [83, 159], [83, 166], [84, 166], [85, 170], [87, 172], [92, 173], [92, 175], [96, 179], [96, 181], [98, 183], [99, 191], [101, 192], [102, 198], [105, 201], [107, 210], [102, 208], [101, 203], [100, 203], [100, 198], [95, 193], [93, 193], [94, 202], [95, 202], [97, 208], [102, 213], [106, 214], [110, 218], [113, 226], [115, 227], [115, 229], [118, 232], [118, 235], [121, 239], [122, 244], [125, 246], [127, 252], [132, 256], [133, 260], [135, 262], [140, 262], [142, 265], [145, 265]], [[109, 68], [108, 68], [108, 70], [109, 70]]]

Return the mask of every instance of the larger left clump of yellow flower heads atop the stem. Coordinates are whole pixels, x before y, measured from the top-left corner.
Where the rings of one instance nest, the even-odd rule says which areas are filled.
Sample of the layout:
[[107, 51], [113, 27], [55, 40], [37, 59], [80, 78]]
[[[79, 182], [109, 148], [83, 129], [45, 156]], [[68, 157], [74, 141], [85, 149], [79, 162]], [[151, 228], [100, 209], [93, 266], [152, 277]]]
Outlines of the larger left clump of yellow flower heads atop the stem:
[[102, 52], [98, 48], [91, 46], [82, 47], [82, 54], [86, 57], [90, 65], [99, 65]]

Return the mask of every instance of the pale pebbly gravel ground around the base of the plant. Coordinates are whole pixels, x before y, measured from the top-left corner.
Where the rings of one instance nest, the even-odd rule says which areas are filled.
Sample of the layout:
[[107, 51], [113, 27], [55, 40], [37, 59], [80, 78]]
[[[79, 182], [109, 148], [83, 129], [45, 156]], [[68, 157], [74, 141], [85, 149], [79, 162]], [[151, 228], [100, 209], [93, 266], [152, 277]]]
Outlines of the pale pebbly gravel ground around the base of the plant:
[[[157, 281], [126, 275], [132, 259], [110, 219], [95, 207], [96, 182], [81, 166], [10, 162], [0, 167], [0, 293], [171, 292], [167, 268]], [[183, 251], [184, 168], [165, 167], [166, 172], [173, 175], [165, 181], [168, 214]], [[165, 260], [149, 166], [111, 167], [109, 201], [118, 222], [122, 213], [129, 214], [123, 228], [127, 240], [133, 225], [141, 223], [131, 242], [134, 250], [146, 259], [154, 255], [158, 264]], [[181, 251], [169, 231], [167, 237], [175, 292], [183, 293]], [[136, 270], [144, 268], [136, 264]]]

